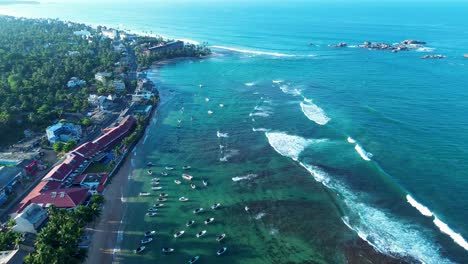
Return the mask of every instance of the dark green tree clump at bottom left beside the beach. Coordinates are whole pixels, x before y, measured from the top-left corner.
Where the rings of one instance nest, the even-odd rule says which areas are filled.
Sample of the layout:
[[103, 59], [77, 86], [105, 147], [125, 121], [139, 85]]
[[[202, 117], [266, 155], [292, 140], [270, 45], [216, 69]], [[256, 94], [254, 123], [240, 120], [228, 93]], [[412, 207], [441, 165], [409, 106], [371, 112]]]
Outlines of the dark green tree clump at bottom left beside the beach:
[[48, 208], [50, 220], [41, 229], [35, 242], [36, 252], [25, 258], [26, 264], [81, 263], [86, 249], [78, 247], [83, 228], [99, 216], [103, 203], [101, 195], [93, 195], [88, 206], [75, 210]]

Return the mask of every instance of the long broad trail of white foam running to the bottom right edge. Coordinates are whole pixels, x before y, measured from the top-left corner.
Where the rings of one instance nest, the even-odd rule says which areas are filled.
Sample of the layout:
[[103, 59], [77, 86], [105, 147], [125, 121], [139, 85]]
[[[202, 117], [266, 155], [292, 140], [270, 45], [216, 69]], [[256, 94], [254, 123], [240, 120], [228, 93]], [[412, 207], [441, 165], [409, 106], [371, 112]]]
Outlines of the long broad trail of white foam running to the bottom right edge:
[[451, 263], [439, 255], [439, 247], [425, 235], [425, 230], [393, 217], [388, 212], [364, 203], [361, 195], [333, 179], [320, 168], [299, 163], [318, 182], [341, 194], [350, 216], [342, 221], [376, 250], [397, 257], [409, 256], [422, 263]]

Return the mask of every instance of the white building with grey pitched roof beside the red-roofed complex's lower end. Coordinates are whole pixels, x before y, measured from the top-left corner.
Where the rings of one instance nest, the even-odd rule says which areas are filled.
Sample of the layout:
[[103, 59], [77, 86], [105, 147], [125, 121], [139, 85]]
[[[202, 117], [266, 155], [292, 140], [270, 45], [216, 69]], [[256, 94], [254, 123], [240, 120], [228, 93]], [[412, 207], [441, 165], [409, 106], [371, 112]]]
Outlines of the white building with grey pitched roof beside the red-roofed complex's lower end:
[[32, 203], [14, 218], [16, 225], [13, 226], [12, 230], [19, 233], [37, 234], [37, 229], [47, 217], [47, 211], [44, 208]]

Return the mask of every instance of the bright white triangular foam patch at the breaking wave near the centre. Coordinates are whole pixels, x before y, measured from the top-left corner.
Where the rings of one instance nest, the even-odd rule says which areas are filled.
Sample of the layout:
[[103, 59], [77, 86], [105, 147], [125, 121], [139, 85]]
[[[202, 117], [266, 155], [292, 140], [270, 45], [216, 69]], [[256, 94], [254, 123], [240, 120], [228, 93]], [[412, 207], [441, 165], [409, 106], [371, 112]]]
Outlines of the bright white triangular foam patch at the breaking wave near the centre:
[[268, 143], [279, 154], [298, 160], [301, 152], [309, 145], [325, 142], [327, 139], [305, 139], [299, 136], [291, 136], [283, 132], [265, 132]]

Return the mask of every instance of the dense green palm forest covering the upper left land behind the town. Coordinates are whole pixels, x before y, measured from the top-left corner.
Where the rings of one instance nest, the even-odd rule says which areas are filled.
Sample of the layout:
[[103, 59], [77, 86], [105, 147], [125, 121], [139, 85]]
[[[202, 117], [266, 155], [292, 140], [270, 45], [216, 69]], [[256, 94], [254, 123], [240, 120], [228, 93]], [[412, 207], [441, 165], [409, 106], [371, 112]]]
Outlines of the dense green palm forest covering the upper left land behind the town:
[[[23, 129], [43, 129], [64, 112], [88, 107], [97, 71], [112, 71], [120, 53], [110, 39], [84, 39], [75, 31], [96, 31], [58, 20], [0, 16], [0, 145], [22, 136]], [[71, 77], [87, 82], [67, 88]], [[16, 136], [16, 137], [11, 137]]]

